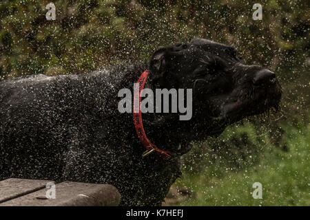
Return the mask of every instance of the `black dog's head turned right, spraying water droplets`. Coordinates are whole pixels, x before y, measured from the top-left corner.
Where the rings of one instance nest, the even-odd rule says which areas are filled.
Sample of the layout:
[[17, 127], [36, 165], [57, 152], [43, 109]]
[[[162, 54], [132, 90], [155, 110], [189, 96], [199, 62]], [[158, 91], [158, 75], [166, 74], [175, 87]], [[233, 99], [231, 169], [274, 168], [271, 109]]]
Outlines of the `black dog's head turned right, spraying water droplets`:
[[276, 74], [244, 65], [234, 47], [205, 39], [157, 50], [149, 72], [157, 87], [193, 89], [192, 125], [209, 134], [249, 115], [278, 109], [281, 98]]

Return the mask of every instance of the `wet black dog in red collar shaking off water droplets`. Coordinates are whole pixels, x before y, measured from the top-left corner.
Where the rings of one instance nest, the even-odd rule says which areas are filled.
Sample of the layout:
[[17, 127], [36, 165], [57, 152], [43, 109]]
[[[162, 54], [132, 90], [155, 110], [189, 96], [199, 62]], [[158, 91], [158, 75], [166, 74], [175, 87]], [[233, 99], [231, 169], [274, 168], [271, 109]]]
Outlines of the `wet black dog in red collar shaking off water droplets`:
[[[149, 140], [172, 158], [142, 159], [132, 113], [118, 111], [118, 91], [193, 89], [192, 120], [143, 113]], [[122, 205], [161, 205], [180, 176], [185, 142], [218, 135], [227, 124], [278, 108], [275, 74], [243, 65], [233, 47], [205, 39], [156, 51], [149, 64], [122, 64], [79, 76], [29, 76], [0, 82], [0, 179], [8, 177], [108, 183]]]

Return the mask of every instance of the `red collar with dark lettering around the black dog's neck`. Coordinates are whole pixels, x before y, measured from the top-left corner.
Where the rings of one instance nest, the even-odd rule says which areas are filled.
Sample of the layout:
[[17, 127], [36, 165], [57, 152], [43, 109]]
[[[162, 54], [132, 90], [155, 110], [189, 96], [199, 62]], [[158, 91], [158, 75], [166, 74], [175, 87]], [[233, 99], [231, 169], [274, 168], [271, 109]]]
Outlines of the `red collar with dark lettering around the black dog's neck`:
[[[143, 146], [145, 146], [146, 151], [143, 153], [142, 157], [146, 157], [147, 155], [151, 154], [151, 153], [156, 153], [157, 155], [160, 155], [163, 159], [168, 159], [171, 157], [171, 155], [169, 155], [169, 151], [163, 151], [161, 149], [159, 149], [157, 146], [155, 146], [154, 144], [152, 144], [149, 139], [147, 138], [147, 136], [145, 135], [145, 131], [143, 129], [143, 122], [142, 122], [142, 115], [141, 115], [141, 92], [142, 89], [145, 86], [145, 81], [147, 80], [147, 75], [149, 74], [149, 72], [147, 70], [145, 70], [145, 72], [143, 72], [141, 74], [141, 76], [138, 79], [138, 86], [139, 86], [139, 92], [138, 94], [135, 94], [135, 89], [134, 89], [134, 104], [132, 105], [132, 112], [134, 115], [134, 127], [136, 129], [136, 134], [139, 137], [139, 140], [141, 141], [141, 143], [143, 144]], [[136, 108], [135, 108], [136, 106]], [[135, 112], [134, 109], [136, 109]]]

